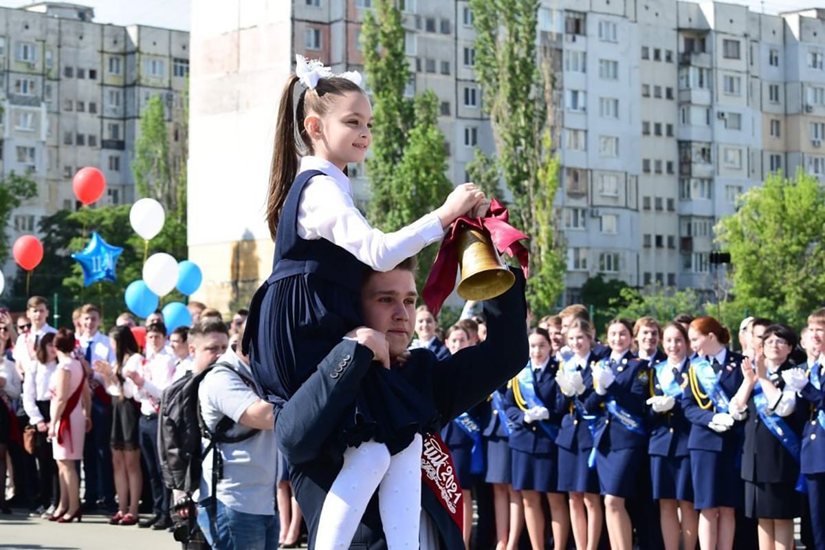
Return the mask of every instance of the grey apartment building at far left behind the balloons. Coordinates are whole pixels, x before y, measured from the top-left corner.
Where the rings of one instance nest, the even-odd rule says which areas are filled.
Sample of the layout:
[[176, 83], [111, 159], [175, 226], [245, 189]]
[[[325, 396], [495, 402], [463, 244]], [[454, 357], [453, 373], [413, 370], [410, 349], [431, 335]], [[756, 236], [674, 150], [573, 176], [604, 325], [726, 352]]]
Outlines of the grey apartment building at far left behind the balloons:
[[37, 233], [45, 215], [78, 208], [71, 181], [81, 167], [106, 176], [98, 204], [134, 200], [130, 162], [152, 96], [166, 106], [173, 163], [186, 158], [188, 33], [93, 20], [91, 7], [64, 2], [0, 8], [0, 170], [28, 173], [38, 191], [12, 214], [12, 241]]

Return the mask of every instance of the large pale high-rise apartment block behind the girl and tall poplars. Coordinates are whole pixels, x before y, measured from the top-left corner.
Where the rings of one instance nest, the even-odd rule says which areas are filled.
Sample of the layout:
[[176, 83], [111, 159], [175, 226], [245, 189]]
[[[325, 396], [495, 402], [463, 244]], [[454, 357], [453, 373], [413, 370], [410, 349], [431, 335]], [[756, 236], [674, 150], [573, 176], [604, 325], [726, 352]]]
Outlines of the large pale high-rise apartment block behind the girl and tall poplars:
[[[254, 101], [210, 96], [217, 76], [206, 72], [200, 80], [193, 61], [193, 93], [199, 86], [202, 109], [193, 110], [192, 124], [210, 120], [220, 129], [205, 134], [212, 136], [204, 138], [212, 151], [226, 131], [234, 131], [234, 139], [254, 136], [260, 157], [251, 159], [248, 149], [240, 153], [245, 162], [238, 165], [248, 177], [238, 192], [248, 191], [254, 204], [262, 204], [277, 96], [294, 55], [323, 59], [335, 71], [361, 69], [361, 21], [374, 0], [220, 5], [227, 12], [221, 21], [214, 14], [193, 17], [193, 49], [203, 45], [204, 59], [212, 63], [215, 45], [225, 40], [237, 49], [238, 61], [236, 73], [220, 74], [224, 86], [251, 82], [247, 71], [255, 66], [257, 82], [271, 87], [266, 96], [238, 92]], [[459, 183], [474, 147], [494, 147], [481, 108], [483, 87], [474, 76], [469, 2], [397, 5], [407, 30], [407, 92], [429, 88], [439, 96], [448, 175]], [[249, 26], [239, 26], [243, 21]], [[279, 48], [262, 63], [255, 46], [267, 42], [253, 35], [267, 25], [281, 35], [266, 39], [277, 40]], [[562, 164], [556, 205], [568, 256], [563, 301], [577, 301], [582, 284], [596, 274], [636, 287], [659, 283], [710, 292], [714, 224], [735, 211], [742, 193], [779, 170], [793, 174], [802, 168], [825, 177], [825, 10], [768, 15], [724, 2], [542, 0], [536, 39], [537, 54], [554, 71], [557, 87], [550, 116]], [[220, 123], [236, 105], [246, 124], [243, 134], [238, 125]], [[252, 120], [252, 113], [266, 116]], [[208, 188], [194, 174], [214, 176], [219, 162], [208, 153], [200, 156], [193, 142], [192, 191]], [[367, 200], [363, 167], [351, 167], [351, 174], [357, 198]], [[218, 205], [223, 198], [204, 199], [201, 207], [210, 200]], [[210, 214], [191, 214], [200, 215], [190, 232], [195, 255], [200, 250], [204, 261], [228, 260], [238, 248], [232, 240], [257, 243], [259, 261], [244, 273], [249, 280], [266, 278], [271, 242], [262, 212], [243, 219], [229, 238], [194, 237], [209, 230]], [[224, 252], [215, 255], [218, 250]], [[220, 300], [221, 285], [237, 289], [238, 272], [214, 268], [213, 291], [204, 296]]]

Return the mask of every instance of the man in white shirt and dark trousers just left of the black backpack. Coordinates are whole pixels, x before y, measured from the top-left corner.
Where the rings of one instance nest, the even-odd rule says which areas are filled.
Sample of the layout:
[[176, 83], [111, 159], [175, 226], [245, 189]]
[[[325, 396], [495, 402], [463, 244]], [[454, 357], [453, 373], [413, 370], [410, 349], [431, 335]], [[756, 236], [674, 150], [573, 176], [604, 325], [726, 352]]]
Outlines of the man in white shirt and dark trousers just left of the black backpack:
[[153, 515], [141, 519], [139, 527], [167, 529], [172, 526], [169, 518], [169, 491], [163, 485], [163, 474], [158, 457], [158, 408], [163, 390], [175, 376], [175, 358], [164, 349], [166, 327], [155, 322], [146, 327], [146, 355], [152, 357], [140, 372], [130, 371], [126, 376], [138, 387], [140, 420], [138, 424], [140, 452], [146, 460], [149, 485], [152, 487]]

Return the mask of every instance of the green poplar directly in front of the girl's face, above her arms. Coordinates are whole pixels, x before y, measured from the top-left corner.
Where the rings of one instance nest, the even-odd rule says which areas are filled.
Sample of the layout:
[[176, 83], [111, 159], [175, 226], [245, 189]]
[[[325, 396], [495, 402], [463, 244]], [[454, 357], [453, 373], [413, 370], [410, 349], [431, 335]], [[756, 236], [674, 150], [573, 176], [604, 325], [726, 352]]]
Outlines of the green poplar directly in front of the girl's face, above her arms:
[[[396, 231], [436, 209], [452, 190], [446, 177], [446, 144], [438, 128], [438, 97], [427, 91], [404, 96], [409, 79], [402, 17], [392, 0], [378, 0], [362, 27], [364, 67], [373, 92], [370, 222]], [[419, 255], [419, 284], [426, 280], [436, 247]]]

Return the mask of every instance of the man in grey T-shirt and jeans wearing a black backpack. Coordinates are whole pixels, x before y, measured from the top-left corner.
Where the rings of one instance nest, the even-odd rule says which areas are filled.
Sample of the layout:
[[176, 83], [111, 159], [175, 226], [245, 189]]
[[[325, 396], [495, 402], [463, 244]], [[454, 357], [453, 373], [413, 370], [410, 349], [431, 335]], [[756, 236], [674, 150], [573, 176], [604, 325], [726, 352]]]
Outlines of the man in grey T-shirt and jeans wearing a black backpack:
[[[197, 524], [215, 550], [274, 550], [279, 525], [272, 407], [257, 397], [246, 358], [228, 349], [223, 322], [201, 322], [188, 342], [191, 374], [163, 396], [164, 481], [177, 496], [186, 495], [176, 496], [176, 504], [186, 502], [197, 484]], [[200, 426], [197, 449], [190, 448], [194, 425]], [[183, 508], [176, 505], [181, 517]]]

